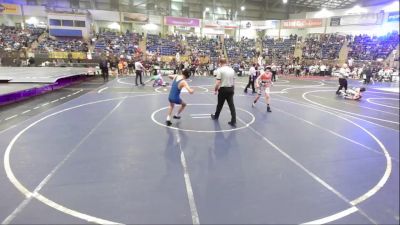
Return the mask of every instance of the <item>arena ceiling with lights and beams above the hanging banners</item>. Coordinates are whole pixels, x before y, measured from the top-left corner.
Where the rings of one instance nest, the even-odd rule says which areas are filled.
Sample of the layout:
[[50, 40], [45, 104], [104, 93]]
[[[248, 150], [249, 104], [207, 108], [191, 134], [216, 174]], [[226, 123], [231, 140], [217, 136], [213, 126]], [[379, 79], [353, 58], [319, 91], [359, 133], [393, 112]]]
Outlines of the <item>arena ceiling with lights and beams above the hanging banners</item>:
[[[9, 0], [13, 1], [13, 0]], [[16, 0], [15, 0], [16, 1]], [[20, 1], [20, 0], [18, 0]], [[393, 0], [26, 0], [28, 4], [205, 19], [287, 19], [289, 14], [371, 6]], [[244, 6], [244, 10], [241, 7]]]

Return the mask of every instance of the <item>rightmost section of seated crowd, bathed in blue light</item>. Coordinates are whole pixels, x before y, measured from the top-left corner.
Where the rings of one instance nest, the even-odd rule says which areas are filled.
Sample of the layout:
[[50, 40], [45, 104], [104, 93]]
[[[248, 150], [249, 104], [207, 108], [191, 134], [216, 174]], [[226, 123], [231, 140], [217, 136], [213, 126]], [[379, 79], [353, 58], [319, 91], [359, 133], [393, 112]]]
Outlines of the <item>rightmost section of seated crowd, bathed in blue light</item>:
[[384, 36], [356, 35], [350, 41], [349, 58], [355, 60], [376, 60], [387, 58], [399, 44], [399, 33], [392, 32]]

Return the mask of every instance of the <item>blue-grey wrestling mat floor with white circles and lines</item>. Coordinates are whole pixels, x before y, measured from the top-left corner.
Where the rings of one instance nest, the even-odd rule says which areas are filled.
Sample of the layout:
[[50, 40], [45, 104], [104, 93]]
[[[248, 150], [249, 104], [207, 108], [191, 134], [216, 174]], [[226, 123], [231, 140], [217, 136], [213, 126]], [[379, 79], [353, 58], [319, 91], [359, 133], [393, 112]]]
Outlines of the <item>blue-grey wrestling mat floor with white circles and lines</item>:
[[282, 78], [267, 113], [239, 78], [232, 129], [227, 106], [209, 118], [213, 83], [190, 80], [195, 94], [182, 94], [189, 106], [171, 127], [169, 88], [133, 77], [4, 127], [0, 221], [399, 223], [399, 94], [378, 89], [398, 85], [351, 101], [335, 80]]

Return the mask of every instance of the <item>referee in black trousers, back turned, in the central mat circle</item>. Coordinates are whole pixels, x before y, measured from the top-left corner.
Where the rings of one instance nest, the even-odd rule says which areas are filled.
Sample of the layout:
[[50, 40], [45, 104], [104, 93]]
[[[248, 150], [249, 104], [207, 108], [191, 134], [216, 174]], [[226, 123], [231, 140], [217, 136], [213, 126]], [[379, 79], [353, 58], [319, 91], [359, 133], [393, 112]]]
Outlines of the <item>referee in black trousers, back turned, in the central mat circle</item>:
[[215, 114], [211, 114], [211, 119], [218, 120], [219, 114], [221, 113], [222, 107], [224, 106], [226, 100], [232, 116], [231, 121], [228, 122], [228, 124], [235, 127], [236, 110], [233, 103], [233, 95], [235, 93], [235, 71], [232, 69], [232, 67], [227, 65], [227, 60], [224, 58], [220, 60], [220, 64], [221, 67], [215, 71], [217, 78], [217, 81], [215, 82], [215, 94], [218, 93], [218, 104]]

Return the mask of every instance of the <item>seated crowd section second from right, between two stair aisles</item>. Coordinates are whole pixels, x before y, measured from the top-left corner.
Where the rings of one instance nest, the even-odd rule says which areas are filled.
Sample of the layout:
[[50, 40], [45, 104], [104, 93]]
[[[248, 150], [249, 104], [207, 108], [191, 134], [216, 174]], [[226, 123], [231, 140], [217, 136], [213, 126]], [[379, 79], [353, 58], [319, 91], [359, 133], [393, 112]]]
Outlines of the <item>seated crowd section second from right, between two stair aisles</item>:
[[346, 36], [321, 34], [307, 37], [304, 40], [303, 58], [305, 59], [339, 59], [339, 52]]

